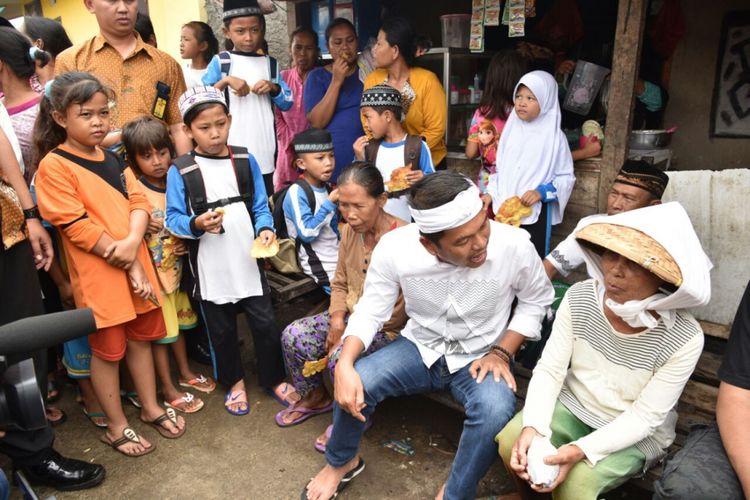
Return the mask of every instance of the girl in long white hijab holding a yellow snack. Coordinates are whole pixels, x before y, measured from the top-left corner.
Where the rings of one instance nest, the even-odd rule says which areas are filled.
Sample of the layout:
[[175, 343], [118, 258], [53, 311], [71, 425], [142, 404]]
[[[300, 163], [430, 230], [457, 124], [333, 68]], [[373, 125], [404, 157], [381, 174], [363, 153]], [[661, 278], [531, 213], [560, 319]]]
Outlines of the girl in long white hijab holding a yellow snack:
[[532, 71], [516, 85], [515, 105], [508, 116], [497, 152], [497, 173], [488, 192], [495, 213], [518, 196], [531, 215], [521, 227], [531, 235], [540, 257], [548, 252], [551, 226], [562, 222], [573, 191], [573, 159], [560, 129], [557, 82], [547, 72]]

